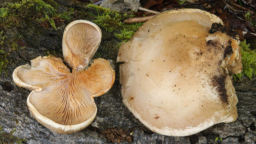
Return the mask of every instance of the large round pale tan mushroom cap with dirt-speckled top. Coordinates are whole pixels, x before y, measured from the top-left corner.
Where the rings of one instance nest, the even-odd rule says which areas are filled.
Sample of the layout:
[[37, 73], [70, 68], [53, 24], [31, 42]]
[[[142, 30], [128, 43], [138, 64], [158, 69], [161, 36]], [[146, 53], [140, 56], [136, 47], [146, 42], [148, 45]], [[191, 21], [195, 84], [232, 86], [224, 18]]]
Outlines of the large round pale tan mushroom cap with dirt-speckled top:
[[151, 131], [188, 136], [237, 118], [232, 74], [242, 70], [238, 41], [210, 34], [219, 17], [198, 9], [162, 12], [122, 43], [121, 94]]

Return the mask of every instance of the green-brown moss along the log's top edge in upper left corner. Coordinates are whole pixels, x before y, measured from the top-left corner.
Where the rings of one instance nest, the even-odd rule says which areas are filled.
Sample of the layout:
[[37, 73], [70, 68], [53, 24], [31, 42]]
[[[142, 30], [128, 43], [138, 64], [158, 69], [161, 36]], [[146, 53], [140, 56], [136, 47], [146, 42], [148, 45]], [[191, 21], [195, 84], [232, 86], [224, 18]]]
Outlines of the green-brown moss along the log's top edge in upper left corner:
[[[14, 0], [15, 1], [15, 0]], [[19, 25], [23, 20], [31, 20], [36, 18], [39, 22], [48, 21], [50, 25], [55, 26], [55, 19], [70, 20], [74, 9], [69, 8], [66, 11], [57, 11], [60, 5], [49, 0], [47, 4], [43, 0], [16, 0], [17, 2], [4, 2], [0, 3], [0, 25]], [[56, 27], [54, 27], [56, 28]]]

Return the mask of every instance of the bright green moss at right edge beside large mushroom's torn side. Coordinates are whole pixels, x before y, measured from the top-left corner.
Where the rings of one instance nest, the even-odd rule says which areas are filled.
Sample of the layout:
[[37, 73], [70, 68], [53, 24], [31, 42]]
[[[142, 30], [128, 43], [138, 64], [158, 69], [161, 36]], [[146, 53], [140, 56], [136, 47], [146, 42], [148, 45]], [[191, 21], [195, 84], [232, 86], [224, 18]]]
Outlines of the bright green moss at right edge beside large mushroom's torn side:
[[256, 49], [251, 50], [250, 44], [246, 44], [246, 41], [240, 43], [242, 54], [243, 70], [240, 74], [235, 74], [234, 79], [238, 77], [241, 80], [241, 76], [244, 74], [252, 80], [252, 74], [256, 74]]

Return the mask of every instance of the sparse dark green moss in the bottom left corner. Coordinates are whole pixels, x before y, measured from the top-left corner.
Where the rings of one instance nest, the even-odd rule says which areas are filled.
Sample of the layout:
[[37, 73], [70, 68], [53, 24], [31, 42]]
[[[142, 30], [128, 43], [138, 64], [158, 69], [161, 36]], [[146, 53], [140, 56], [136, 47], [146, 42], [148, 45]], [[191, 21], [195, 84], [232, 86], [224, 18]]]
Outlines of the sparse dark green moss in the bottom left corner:
[[13, 136], [13, 132], [15, 132], [15, 128], [10, 133], [3, 132], [3, 125], [0, 126], [0, 144], [11, 144], [11, 143], [21, 143], [22, 141], [26, 141], [24, 139], [20, 139], [18, 137]]

